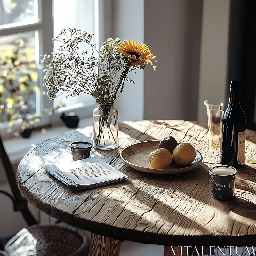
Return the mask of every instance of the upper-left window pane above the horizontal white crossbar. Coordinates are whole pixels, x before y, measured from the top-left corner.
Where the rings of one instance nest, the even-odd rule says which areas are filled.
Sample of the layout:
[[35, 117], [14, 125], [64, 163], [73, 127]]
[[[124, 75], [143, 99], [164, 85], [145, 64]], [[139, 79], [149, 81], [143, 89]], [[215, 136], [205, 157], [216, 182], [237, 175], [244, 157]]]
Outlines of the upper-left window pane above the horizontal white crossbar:
[[0, 0], [0, 28], [36, 22], [37, 0]]

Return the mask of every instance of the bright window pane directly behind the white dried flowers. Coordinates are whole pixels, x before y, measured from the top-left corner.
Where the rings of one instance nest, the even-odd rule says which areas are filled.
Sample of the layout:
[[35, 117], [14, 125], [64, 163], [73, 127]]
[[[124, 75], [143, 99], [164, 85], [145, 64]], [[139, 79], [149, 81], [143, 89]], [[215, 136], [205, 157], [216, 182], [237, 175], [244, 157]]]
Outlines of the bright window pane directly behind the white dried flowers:
[[[64, 28], [76, 28], [94, 33], [94, 1], [95, 0], [54, 0], [54, 36], [57, 36]], [[68, 17], [68, 18], [67, 18]], [[54, 42], [54, 48], [58, 48], [60, 42]], [[89, 51], [87, 44], [80, 44], [80, 52]], [[53, 101], [54, 107], [72, 106], [79, 103], [88, 104], [95, 102], [95, 99], [85, 93], [79, 96], [65, 98], [65, 95], [58, 96]]]

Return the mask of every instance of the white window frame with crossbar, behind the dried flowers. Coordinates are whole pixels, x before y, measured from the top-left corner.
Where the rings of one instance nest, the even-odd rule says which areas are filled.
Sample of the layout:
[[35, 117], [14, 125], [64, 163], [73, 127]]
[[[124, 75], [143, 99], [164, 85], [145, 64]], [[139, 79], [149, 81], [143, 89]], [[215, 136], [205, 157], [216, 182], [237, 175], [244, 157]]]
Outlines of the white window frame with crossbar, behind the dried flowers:
[[[103, 30], [99, 27], [102, 25], [102, 21], [100, 19], [99, 23], [99, 12], [102, 11], [103, 0], [94, 0], [94, 31], [95, 31], [95, 40], [99, 45], [99, 38], [101, 34], [103, 34]], [[36, 64], [39, 64], [39, 54], [49, 54], [52, 52], [53, 43], [52, 38], [53, 35], [53, 0], [38, 0], [38, 22], [32, 24], [26, 24], [24, 22], [17, 22], [14, 25], [6, 25], [0, 26], [0, 37], [1, 36], [9, 36], [20, 33], [27, 33], [32, 31], [38, 31], [38, 36], [36, 36]], [[104, 23], [104, 22], [103, 22]], [[1, 28], [2, 27], [2, 28]], [[100, 34], [99, 34], [100, 33]], [[100, 38], [101, 39], [101, 38]], [[38, 41], [37, 41], [38, 40]], [[42, 81], [43, 73], [42, 70], [39, 70], [39, 79]], [[43, 83], [40, 82], [41, 90], [45, 90], [43, 87]], [[36, 106], [37, 113], [41, 114], [41, 121], [39, 126], [46, 126], [52, 123], [60, 122], [60, 115], [62, 113], [70, 113], [75, 112], [80, 118], [84, 118], [92, 115], [92, 110], [97, 106], [96, 103], [87, 102], [87, 103], [79, 103], [72, 106], [61, 107], [57, 109], [57, 111], [52, 115], [48, 115], [43, 113], [45, 108], [52, 108], [53, 101], [50, 100], [47, 96], [41, 97], [40, 94], [36, 95]], [[0, 123], [0, 131], [1, 133], [5, 133], [8, 129], [9, 124], [1, 124]]]

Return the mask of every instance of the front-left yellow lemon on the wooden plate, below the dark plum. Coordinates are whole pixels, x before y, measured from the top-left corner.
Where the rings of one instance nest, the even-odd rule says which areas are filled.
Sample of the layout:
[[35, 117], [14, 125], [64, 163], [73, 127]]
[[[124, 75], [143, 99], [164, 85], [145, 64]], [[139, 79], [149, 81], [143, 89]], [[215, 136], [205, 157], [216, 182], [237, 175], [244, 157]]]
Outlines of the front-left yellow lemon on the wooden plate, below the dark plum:
[[172, 154], [165, 148], [159, 148], [150, 153], [149, 164], [154, 169], [165, 169], [172, 163]]

